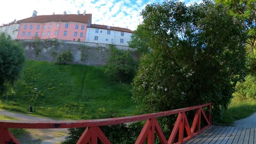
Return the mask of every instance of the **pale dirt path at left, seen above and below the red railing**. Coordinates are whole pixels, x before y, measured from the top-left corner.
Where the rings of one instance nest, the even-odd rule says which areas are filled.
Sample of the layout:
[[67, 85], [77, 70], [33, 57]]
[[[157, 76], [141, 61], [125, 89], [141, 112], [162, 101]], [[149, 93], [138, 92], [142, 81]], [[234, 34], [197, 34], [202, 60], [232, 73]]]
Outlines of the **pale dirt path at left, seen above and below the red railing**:
[[[0, 115], [13, 117], [18, 121], [52, 121], [53, 119], [45, 117], [29, 116], [26, 114], [15, 113], [7, 110], [0, 109]], [[23, 134], [17, 139], [20, 143], [60, 143], [65, 140], [68, 135], [67, 129], [25, 129]]]

